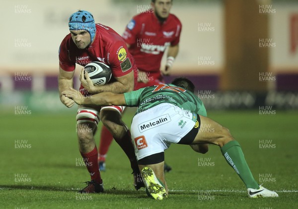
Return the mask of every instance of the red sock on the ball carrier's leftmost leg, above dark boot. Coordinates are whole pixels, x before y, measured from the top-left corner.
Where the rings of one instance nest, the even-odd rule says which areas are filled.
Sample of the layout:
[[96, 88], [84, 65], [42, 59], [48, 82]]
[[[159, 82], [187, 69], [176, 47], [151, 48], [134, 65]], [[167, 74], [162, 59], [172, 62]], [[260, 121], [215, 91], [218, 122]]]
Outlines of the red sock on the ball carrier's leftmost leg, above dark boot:
[[85, 162], [85, 165], [87, 167], [87, 170], [90, 173], [91, 180], [96, 181], [97, 183], [101, 184], [102, 180], [100, 177], [98, 162], [97, 162], [97, 148], [96, 146], [90, 153], [81, 153], [81, 156], [83, 157], [83, 160]]

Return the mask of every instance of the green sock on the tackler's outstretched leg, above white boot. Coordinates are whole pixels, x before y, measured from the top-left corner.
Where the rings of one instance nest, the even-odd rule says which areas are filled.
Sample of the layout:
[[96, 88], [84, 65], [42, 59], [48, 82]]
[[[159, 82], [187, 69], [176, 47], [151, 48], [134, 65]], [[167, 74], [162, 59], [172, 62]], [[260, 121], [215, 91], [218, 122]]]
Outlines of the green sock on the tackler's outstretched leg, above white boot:
[[236, 171], [246, 188], [260, 188], [250, 172], [250, 169], [245, 161], [244, 154], [237, 141], [228, 142], [221, 148], [221, 151], [227, 163]]

